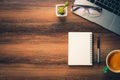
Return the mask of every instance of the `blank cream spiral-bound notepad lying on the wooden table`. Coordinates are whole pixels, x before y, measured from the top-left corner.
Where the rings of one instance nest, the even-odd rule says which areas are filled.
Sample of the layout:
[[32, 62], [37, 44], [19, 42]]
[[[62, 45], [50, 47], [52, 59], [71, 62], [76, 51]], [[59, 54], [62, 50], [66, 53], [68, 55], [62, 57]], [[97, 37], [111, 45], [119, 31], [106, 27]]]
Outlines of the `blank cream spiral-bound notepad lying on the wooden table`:
[[68, 33], [68, 65], [92, 65], [92, 32]]

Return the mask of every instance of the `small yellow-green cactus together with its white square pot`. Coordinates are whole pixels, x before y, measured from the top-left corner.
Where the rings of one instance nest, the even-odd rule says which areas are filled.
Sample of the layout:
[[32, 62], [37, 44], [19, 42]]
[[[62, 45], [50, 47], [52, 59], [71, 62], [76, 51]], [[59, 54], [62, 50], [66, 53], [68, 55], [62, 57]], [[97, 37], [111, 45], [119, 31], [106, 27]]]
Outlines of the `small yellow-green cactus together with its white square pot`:
[[68, 14], [68, 12], [67, 12], [68, 4], [69, 4], [68, 0], [64, 4], [57, 4], [56, 5], [56, 16], [58, 16], [58, 17], [67, 16], [67, 14]]

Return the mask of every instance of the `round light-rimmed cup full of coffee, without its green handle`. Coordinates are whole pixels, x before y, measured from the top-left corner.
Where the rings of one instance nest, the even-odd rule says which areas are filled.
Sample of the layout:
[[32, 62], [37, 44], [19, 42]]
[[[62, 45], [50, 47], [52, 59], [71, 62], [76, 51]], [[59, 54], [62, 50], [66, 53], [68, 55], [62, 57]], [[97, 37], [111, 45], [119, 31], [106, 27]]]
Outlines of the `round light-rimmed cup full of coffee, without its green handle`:
[[113, 50], [107, 55], [106, 65], [111, 72], [120, 73], [120, 50]]

